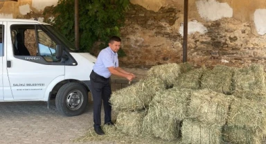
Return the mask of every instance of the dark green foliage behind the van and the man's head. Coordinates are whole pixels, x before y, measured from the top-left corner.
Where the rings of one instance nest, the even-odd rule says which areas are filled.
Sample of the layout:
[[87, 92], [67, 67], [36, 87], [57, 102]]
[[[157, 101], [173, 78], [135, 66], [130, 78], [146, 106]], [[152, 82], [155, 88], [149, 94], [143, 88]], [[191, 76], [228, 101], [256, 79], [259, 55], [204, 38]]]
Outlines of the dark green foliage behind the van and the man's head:
[[[120, 36], [129, 0], [79, 0], [78, 3], [80, 51], [91, 52], [95, 42], [101, 42], [100, 49], [105, 48], [109, 37]], [[74, 0], [59, 0], [53, 8], [53, 26], [71, 42], [75, 42], [74, 6]]]

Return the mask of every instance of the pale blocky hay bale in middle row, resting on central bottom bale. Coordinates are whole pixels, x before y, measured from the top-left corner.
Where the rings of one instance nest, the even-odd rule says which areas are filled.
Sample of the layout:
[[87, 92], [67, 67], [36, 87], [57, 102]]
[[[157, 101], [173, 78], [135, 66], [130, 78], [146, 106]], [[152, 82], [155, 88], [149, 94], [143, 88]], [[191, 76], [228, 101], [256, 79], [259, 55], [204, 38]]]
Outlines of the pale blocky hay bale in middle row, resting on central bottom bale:
[[224, 125], [227, 121], [231, 97], [223, 93], [202, 89], [191, 94], [188, 117], [211, 125]]

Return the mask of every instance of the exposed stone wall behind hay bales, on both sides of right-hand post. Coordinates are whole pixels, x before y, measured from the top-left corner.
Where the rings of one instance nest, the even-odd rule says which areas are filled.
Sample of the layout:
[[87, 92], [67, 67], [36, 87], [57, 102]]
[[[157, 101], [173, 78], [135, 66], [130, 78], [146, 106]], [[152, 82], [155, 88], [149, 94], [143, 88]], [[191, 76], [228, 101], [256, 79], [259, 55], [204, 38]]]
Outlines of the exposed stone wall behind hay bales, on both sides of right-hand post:
[[[171, 6], [154, 12], [132, 4], [121, 29], [122, 48], [127, 54], [121, 58], [121, 63], [125, 66], [152, 66], [182, 62], [183, 13]], [[257, 33], [254, 22], [243, 22], [230, 14], [217, 17], [209, 16], [213, 20], [190, 17], [188, 62], [195, 66], [264, 64], [265, 35]]]

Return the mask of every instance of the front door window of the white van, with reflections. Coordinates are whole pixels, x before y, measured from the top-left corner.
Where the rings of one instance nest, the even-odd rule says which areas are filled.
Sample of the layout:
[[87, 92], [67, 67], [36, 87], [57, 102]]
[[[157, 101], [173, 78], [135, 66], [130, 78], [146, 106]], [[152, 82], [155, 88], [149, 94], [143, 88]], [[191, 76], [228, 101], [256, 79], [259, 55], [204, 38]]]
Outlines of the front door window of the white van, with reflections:
[[12, 41], [14, 40], [14, 55], [41, 56], [46, 62], [59, 62], [56, 59], [57, 42], [36, 25], [12, 25]]

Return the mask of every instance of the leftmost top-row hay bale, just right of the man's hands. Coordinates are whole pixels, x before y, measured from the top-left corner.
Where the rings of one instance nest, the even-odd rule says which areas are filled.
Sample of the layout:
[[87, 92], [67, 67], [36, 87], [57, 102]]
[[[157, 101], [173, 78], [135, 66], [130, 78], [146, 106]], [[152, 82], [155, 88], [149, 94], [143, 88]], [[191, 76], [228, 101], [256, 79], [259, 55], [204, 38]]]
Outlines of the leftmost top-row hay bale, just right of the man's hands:
[[180, 73], [180, 66], [177, 63], [171, 63], [152, 66], [147, 74], [148, 77], [160, 78], [167, 87], [172, 87]]

